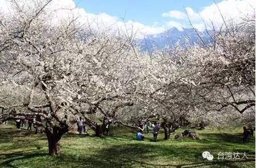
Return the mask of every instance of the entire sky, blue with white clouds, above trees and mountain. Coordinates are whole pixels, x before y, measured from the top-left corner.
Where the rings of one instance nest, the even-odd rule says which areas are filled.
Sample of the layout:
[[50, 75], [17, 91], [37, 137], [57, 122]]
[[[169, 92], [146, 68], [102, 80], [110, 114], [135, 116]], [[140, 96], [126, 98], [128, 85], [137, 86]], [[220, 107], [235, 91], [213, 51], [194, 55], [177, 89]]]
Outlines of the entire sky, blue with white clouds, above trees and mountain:
[[[29, 0], [21, 2], [26, 5]], [[211, 28], [212, 23], [215, 28], [221, 26], [222, 16], [225, 20], [243, 22], [242, 18], [253, 14], [255, 8], [255, 0], [216, 0], [216, 3], [213, 0], [54, 0], [48, 10], [54, 11], [52, 22], [75, 16], [79, 24], [94, 30], [144, 37], [173, 27], [180, 31], [191, 28], [188, 16], [199, 31]], [[0, 0], [0, 11], [10, 12], [10, 8], [9, 0]]]

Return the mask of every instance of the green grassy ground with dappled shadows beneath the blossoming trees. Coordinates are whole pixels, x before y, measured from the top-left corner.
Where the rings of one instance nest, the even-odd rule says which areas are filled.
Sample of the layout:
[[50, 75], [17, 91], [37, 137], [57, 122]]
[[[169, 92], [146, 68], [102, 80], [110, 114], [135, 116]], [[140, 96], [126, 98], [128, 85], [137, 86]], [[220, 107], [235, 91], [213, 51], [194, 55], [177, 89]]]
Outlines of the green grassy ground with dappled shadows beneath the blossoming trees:
[[[242, 128], [196, 130], [201, 140], [164, 141], [161, 132], [158, 142], [152, 135], [136, 141], [128, 128], [111, 131], [114, 135], [102, 138], [64, 135], [62, 154], [50, 157], [44, 134], [0, 125], [0, 167], [255, 167], [255, 137], [243, 145]], [[213, 154], [213, 161], [202, 158], [205, 150]], [[239, 152], [240, 157], [246, 152], [249, 159], [220, 160], [219, 152]]]

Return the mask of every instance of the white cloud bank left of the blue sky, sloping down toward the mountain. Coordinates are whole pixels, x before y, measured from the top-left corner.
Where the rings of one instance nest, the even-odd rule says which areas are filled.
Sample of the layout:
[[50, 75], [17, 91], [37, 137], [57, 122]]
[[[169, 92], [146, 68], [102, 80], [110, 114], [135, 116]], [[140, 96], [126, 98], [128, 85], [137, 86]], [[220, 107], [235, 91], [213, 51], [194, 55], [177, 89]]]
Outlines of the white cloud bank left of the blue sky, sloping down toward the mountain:
[[[32, 0], [20, 0], [24, 9], [30, 9], [34, 1]], [[5, 12], [9, 15], [15, 15], [12, 9], [11, 3], [7, 0], [0, 0], [0, 11]], [[64, 20], [79, 17], [78, 22], [80, 24], [90, 24], [91, 28], [96, 30], [109, 30], [112, 32], [125, 32], [131, 34], [131, 32], [136, 33], [137, 37], [143, 37], [144, 35], [152, 35], [156, 33], [161, 33], [165, 31], [164, 27], [160, 26], [146, 26], [139, 22], [133, 22], [132, 20], [127, 20], [126, 22], [121, 21], [116, 16], [108, 15], [105, 13], [91, 14], [86, 12], [82, 8], [76, 7], [74, 1], [72, 0], [54, 0], [47, 7], [47, 14], [51, 18], [51, 24], [59, 24], [64, 22]]]

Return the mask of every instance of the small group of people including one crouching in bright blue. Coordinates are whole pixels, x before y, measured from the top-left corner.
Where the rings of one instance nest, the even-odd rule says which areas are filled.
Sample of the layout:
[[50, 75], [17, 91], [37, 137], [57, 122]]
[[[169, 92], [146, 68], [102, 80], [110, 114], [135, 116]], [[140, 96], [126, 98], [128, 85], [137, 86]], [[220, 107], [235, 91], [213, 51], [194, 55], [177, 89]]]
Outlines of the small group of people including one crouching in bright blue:
[[[141, 126], [142, 125], [142, 126]], [[151, 123], [149, 122], [149, 120], [146, 121], [145, 123], [145, 126], [146, 126], [146, 129], [147, 129], [147, 133], [149, 133], [149, 127], [150, 127]], [[153, 128], [153, 138], [155, 141], [157, 141], [157, 135], [159, 135], [159, 130], [160, 130], [160, 123], [156, 123], [154, 122], [152, 124], [152, 128]], [[136, 140], [138, 141], [143, 141], [144, 140], [144, 136], [143, 136], [143, 131], [144, 131], [144, 124], [143, 123], [140, 123], [139, 124], [139, 132], [137, 133], [137, 136], [136, 136]]]

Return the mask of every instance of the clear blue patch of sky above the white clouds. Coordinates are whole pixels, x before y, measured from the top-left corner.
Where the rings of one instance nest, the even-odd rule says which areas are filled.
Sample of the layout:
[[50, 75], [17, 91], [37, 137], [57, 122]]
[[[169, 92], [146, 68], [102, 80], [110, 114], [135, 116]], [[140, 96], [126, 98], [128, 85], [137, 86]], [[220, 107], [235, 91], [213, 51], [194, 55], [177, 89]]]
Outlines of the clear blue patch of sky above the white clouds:
[[[221, 0], [216, 0], [220, 2]], [[170, 10], [185, 11], [190, 7], [194, 11], [201, 11], [204, 7], [212, 5], [213, 0], [75, 0], [78, 7], [86, 12], [117, 16], [126, 20], [135, 20], [145, 25], [153, 25], [156, 22], [163, 24], [168, 18], [163, 18], [162, 13]], [[173, 19], [177, 20], [177, 19]], [[185, 21], [184, 21], [185, 22]]]

